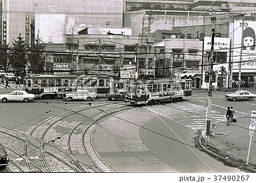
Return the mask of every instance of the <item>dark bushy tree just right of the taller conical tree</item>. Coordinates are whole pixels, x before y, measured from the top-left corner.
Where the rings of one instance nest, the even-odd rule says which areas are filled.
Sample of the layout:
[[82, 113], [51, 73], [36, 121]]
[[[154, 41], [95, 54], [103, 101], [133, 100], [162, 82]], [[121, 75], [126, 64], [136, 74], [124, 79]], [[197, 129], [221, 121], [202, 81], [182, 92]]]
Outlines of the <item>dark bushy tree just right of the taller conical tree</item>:
[[32, 44], [29, 48], [27, 61], [29, 63], [28, 69], [32, 73], [44, 73], [44, 45]]

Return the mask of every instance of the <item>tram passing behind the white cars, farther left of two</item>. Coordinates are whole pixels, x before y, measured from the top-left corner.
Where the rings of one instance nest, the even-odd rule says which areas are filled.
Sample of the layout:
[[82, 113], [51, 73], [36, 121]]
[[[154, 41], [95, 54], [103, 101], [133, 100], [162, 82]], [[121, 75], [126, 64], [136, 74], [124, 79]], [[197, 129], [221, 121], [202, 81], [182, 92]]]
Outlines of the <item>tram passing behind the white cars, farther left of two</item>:
[[109, 92], [109, 76], [31, 74], [24, 77], [25, 91], [35, 97], [51, 99], [65, 97], [76, 90], [89, 90], [105, 96]]

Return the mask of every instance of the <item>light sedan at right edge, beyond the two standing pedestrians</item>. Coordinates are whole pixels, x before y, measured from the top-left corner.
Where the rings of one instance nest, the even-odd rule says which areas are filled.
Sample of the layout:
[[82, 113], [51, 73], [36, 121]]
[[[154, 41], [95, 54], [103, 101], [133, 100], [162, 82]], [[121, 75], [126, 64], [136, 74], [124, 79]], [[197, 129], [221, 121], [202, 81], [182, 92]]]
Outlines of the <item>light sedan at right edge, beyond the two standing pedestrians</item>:
[[234, 93], [227, 93], [225, 95], [225, 98], [228, 100], [232, 101], [237, 101], [237, 100], [251, 100], [255, 99], [256, 95], [253, 93], [250, 93], [249, 91], [244, 91], [244, 90], [238, 90]]

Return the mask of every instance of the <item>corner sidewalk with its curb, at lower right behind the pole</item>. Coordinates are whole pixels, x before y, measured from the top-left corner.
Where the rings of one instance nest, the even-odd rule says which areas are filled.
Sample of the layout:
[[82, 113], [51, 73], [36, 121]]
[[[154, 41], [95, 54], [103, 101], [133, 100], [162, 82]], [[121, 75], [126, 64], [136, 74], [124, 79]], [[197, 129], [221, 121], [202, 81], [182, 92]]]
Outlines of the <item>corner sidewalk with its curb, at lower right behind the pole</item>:
[[212, 126], [206, 147], [203, 136], [200, 135], [199, 146], [226, 164], [245, 169], [248, 172], [256, 172], [255, 135], [252, 137], [249, 159], [246, 164], [250, 142], [249, 125], [249, 116], [237, 118], [237, 122], [230, 122], [230, 126], [226, 125], [226, 121], [219, 122]]

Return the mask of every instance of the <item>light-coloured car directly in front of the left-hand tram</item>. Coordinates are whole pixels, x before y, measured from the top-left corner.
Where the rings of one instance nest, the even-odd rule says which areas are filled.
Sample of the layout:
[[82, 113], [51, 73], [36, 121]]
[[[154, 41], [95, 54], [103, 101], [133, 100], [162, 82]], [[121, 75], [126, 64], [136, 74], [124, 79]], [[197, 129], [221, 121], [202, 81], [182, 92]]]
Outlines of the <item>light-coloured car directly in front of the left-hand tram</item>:
[[97, 98], [97, 93], [96, 92], [90, 92], [88, 90], [76, 90], [73, 93], [68, 93], [65, 96], [65, 99], [68, 101], [72, 101], [72, 100], [87, 100], [90, 101], [92, 99], [96, 99]]

